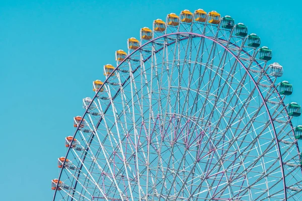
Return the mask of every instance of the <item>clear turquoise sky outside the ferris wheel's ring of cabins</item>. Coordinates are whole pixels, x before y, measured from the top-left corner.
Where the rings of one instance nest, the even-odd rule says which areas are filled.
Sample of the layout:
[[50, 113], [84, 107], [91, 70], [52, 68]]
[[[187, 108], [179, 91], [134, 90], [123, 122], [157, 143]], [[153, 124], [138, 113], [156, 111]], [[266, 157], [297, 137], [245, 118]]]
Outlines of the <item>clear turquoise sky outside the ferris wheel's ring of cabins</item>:
[[[294, 4], [296, 2], [296, 4]], [[51, 200], [57, 158], [82, 98], [127, 39], [167, 14], [201, 8], [231, 15], [273, 50], [293, 84], [285, 102], [302, 104], [301, 3], [294, 1], [27, 1], [0, 0], [1, 200]], [[271, 63], [270, 62], [270, 63]], [[295, 118], [293, 124], [302, 124]]]

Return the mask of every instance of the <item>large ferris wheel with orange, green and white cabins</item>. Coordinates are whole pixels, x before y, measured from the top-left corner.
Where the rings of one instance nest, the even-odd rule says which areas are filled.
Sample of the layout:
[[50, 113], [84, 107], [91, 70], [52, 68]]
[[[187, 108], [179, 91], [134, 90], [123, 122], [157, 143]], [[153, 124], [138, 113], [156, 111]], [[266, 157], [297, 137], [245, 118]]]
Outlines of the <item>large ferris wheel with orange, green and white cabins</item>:
[[301, 108], [260, 45], [202, 9], [141, 28], [73, 118], [53, 200], [301, 200]]

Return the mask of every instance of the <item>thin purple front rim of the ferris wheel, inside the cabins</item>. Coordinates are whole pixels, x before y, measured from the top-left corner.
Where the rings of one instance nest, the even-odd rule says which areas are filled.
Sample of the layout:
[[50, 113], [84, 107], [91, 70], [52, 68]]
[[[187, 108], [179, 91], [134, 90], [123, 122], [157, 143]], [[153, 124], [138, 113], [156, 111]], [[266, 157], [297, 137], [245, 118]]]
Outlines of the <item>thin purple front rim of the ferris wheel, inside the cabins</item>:
[[[157, 37], [157, 38], [154, 38], [148, 42], [146, 42], [145, 44], [141, 45], [138, 49], [134, 50], [131, 54], [129, 54], [112, 72], [111, 74], [106, 78], [106, 80], [103, 82], [103, 85], [99, 88], [98, 92], [95, 94], [95, 96], [92, 98], [92, 102], [89, 104], [88, 108], [86, 109], [84, 115], [82, 116], [82, 120], [81, 122], [79, 123], [79, 125], [82, 123], [85, 115], [87, 114], [88, 112], [88, 109], [90, 108], [91, 104], [93, 103], [94, 99], [97, 97], [99, 91], [101, 88], [103, 88], [103, 86], [105, 85], [105, 83], [108, 81], [108, 79], [111, 77], [111, 75], [118, 69], [118, 67], [124, 62], [126, 61], [128, 58], [130, 58], [130, 56], [132, 54], [134, 54], [135, 52], [139, 51], [140, 49], [142, 49], [144, 46], [146, 46], [147, 44], [149, 43], [152, 43], [160, 38], [164, 38], [164, 37], [167, 37], [167, 36], [171, 36], [171, 35], [179, 35], [179, 34], [188, 34], [188, 35], [192, 35], [192, 36], [197, 36], [197, 37], [201, 37], [201, 38], [206, 38], [206, 39], [209, 39], [211, 40], [212, 42], [220, 45], [222, 48], [224, 48], [226, 51], [228, 51], [232, 56], [234, 56], [234, 58], [240, 63], [240, 65], [242, 65], [242, 67], [246, 70], [247, 74], [250, 76], [251, 80], [253, 81], [253, 83], [255, 84], [258, 92], [259, 92], [259, 95], [261, 96], [261, 99], [262, 99], [262, 102], [265, 106], [265, 109], [267, 111], [267, 114], [269, 115], [269, 120], [271, 122], [271, 125], [272, 125], [272, 128], [273, 128], [273, 131], [274, 131], [274, 136], [275, 136], [275, 139], [276, 139], [276, 145], [277, 145], [277, 148], [278, 148], [278, 153], [279, 153], [279, 160], [280, 160], [280, 167], [281, 167], [281, 172], [282, 172], [282, 180], [283, 180], [283, 186], [284, 186], [284, 200], [286, 201], [287, 200], [287, 196], [286, 196], [286, 184], [285, 184], [285, 176], [284, 176], [284, 170], [283, 170], [283, 161], [282, 161], [282, 157], [281, 157], [281, 151], [280, 151], [280, 147], [279, 147], [279, 142], [278, 142], [278, 136], [277, 136], [277, 133], [276, 133], [276, 130], [275, 130], [275, 126], [274, 126], [274, 123], [273, 123], [273, 120], [272, 120], [272, 117], [271, 117], [271, 114], [269, 112], [269, 109], [266, 105], [266, 102], [265, 102], [265, 99], [256, 83], [256, 81], [254, 80], [253, 76], [251, 75], [251, 73], [249, 72], [249, 70], [246, 68], [246, 66], [242, 63], [242, 61], [231, 51], [229, 50], [227, 47], [225, 47], [224, 45], [222, 45], [221, 43], [219, 43], [218, 41], [210, 38], [210, 37], [207, 37], [207, 36], [204, 36], [204, 35], [201, 35], [201, 34], [196, 34], [196, 33], [192, 33], [192, 32], [177, 32], [177, 33], [170, 33], [170, 34], [165, 34], [163, 36], [160, 36], [160, 37]], [[110, 104], [109, 104], [110, 105]], [[102, 119], [102, 118], [101, 118]], [[100, 119], [100, 121], [101, 121]], [[99, 123], [100, 123], [99, 121]], [[98, 125], [97, 125], [98, 126]], [[72, 141], [75, 137], [75, 135], [77, 134], [77, 132], [79, 131], [79, 126], [77, 127], [77, 129], [75, 130], [74, 134], [73, 134], [73, 137], [72, 137]], [[65, 158], [67, 158], [68, 156], [68, 153], [70, 151], [70, 146], [68, 147], [68, 150], [66, 152], [66, 156]], [[85, 159], [84, 159], [85, 160]], [[65, 160], [62, 164], [62, 166], [64, 167], [64, 164], [65, 164]], [[59, 177], [58, 177], [58, 180], [60, 180], [60, 177], [62, 175], [62, 172], [63, 172], [63, 168], [61, 168], [60, 170], [60, 174], [59, 174]], [[56, 185], [56, 188], [55, 188], [55, 192], [54, 192], [54, 195], [53, 195], [53, 201], [55, 200], [55, 195], [56, 195], [56, 192], [57, 192], [57, 188], [58, 188], [58, 185]]]

